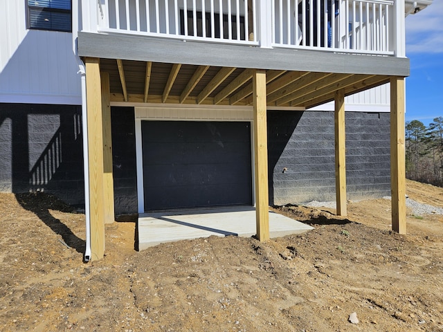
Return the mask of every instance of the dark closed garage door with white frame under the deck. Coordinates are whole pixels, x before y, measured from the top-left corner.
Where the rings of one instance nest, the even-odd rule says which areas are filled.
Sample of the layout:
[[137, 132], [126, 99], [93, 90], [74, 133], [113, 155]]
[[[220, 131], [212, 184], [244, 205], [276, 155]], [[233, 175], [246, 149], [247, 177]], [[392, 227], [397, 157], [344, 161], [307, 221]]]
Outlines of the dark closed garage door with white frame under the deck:
[[142, 121], [145, 210], [251, 205], [249, 122]]

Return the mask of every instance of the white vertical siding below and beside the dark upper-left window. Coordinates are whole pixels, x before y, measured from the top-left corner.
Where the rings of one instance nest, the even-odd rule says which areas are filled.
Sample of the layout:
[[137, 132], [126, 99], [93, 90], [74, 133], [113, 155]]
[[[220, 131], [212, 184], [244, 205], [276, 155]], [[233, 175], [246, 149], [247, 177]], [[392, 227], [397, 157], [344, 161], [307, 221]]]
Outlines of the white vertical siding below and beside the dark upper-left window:
[[81, 104], [72, 34], [26, 30], [25, 2], [1, 0], [0, 102]]

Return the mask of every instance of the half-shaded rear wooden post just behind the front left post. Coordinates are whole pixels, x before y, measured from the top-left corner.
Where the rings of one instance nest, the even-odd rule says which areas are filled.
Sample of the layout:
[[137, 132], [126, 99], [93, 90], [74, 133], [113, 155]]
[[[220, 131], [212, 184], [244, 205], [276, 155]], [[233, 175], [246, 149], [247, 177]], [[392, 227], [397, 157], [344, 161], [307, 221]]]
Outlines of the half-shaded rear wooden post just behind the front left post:
[[109, 73], [101, 74], [103, 130], [103, 207], [105, 223], [114, 223], [114, 178], [112, 176], [112, 136]]

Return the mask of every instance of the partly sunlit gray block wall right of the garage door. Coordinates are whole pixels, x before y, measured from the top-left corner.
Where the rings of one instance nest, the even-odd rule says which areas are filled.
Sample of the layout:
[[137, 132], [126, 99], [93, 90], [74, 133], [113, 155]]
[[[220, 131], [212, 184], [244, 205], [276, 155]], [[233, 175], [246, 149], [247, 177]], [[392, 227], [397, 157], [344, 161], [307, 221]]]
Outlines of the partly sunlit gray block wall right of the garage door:
[[[389, 113], [345, 113], [347, 199], [390, 194]], [[273, 205], [335, 200], [334, 113], [269, 111]]]

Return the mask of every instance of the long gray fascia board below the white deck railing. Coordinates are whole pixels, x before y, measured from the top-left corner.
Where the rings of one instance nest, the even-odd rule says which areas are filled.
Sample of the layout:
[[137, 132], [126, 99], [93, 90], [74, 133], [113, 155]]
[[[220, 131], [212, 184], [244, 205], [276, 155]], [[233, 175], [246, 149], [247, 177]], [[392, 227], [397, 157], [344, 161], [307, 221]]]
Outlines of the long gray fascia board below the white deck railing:
[[80, 32], [78, 34], [78, 53], [81, 57], [197, 66], [393, 75], [398, 77], [406, 77], [410, 74], [409, 59], [406, 57], [183, 42], [166, 38], [101, 33]]

